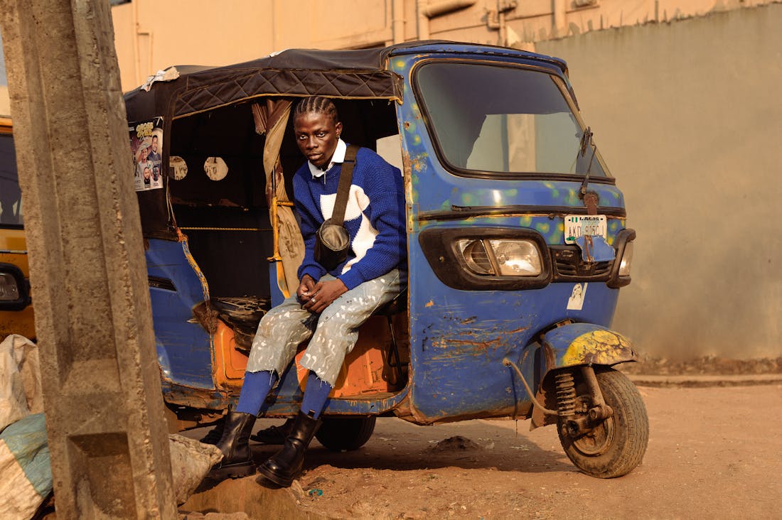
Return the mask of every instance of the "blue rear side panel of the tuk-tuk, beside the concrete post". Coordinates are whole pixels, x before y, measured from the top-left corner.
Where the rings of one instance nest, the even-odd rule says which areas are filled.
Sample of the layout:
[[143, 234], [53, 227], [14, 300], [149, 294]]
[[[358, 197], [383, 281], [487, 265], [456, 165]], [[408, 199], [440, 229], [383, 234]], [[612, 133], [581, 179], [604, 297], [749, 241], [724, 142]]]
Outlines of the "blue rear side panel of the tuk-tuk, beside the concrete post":
[[192, 307], [203, 302], [203, 289], [181, 242], [149, 240], [150, 276], [167, 278], [176, 291], [150, 288], [152, 321], [163, 377], [178, 385], [213, 389], [210, 337], [192, 320]]

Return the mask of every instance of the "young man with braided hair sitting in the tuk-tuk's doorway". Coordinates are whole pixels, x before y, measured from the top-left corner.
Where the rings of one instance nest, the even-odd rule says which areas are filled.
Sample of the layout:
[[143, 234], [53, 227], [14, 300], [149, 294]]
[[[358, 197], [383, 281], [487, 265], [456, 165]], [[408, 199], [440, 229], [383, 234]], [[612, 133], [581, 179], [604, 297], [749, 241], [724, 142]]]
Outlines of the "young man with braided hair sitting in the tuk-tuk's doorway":
[[290, 486], [301, 472], [304, 450], [320, 425], [320, 414], [345, 355], [358, 339], [358, 328], [407, 283], [400, 170], [370, 149], [359, 149], [345, 210], [350, 252], [346, 261], [326, 271], [314, 259], [315, 233], [334, 210], [347, 149], [339, 138], [343, 125], [334, 103], [315, 96], [296, 106], [293, 128], [299, 149], [308, 160], [293, 178], [305, 246], [298, 272], [300, 284], [296, 296], [270, 310], [258, 325], [239, 404], [228, 414], [217, 443], [224, 458], [213, 468], [215, 478], [256, 471], [247, 442], [256, 415], [296, 355], [296, 347], [309, 340], [301, 359], [303, 368], [310, 371], [301, 411], [282, 450], [260, 467], [266, 479]]

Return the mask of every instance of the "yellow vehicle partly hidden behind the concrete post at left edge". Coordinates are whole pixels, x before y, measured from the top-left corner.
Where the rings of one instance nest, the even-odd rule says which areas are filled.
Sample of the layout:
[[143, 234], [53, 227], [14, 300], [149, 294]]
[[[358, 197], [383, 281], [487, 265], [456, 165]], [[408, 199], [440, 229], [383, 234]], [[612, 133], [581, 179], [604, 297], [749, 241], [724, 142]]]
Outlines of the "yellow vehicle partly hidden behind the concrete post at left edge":
[[9, 334], [35, 337], [29, 277], [12, 124], [0, 117], [0, 340]]

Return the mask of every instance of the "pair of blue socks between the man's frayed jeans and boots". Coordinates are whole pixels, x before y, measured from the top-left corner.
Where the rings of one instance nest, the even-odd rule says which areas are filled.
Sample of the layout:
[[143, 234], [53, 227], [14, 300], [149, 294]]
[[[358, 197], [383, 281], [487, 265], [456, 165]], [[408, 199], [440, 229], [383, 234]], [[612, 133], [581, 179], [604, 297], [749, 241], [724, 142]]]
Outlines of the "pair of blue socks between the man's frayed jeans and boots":
[[[271, 387], [278, 380], [274, 371], [245, 372], [242, 393], [239, 394], [239, 403], [236, 410], [243, 414], [258, 415], [264, 405], [266, 396], [271, 392]], [[310, 417], [317, 419], [325, 409], [328, 402], [328, 394], [332, 386], [318, 378], [313, 371], [307, 376], [307, 386], [304, 389], [304, 398], [301, 402], [301, 411]]]

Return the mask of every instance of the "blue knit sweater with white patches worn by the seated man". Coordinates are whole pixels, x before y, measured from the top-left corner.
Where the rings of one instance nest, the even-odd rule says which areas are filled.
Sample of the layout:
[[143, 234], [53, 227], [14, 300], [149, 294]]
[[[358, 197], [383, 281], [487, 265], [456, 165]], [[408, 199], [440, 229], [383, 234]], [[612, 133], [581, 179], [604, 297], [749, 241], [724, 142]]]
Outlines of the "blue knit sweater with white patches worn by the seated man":
[[[293, 177], [305, 247], [299, 279], [309, 274], [317, 282], [326, 274], [325, 268], [313, 258], [315, 233], [332, 216], [340, 171], [342, 164], [336, 163], [320, 178], [313, 178], [305, 162]], [[350, 250], [347, 260], [330, 274], [342, 280], [347, 289], [353, 289], [403, 266], [407, 260], [404, 210], [400, 170], [371, 149], [359, 149], [345, 210]]]

